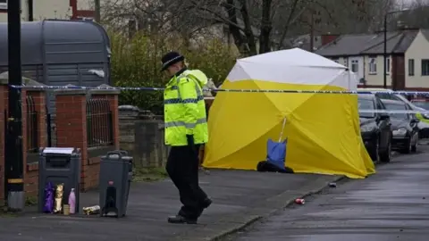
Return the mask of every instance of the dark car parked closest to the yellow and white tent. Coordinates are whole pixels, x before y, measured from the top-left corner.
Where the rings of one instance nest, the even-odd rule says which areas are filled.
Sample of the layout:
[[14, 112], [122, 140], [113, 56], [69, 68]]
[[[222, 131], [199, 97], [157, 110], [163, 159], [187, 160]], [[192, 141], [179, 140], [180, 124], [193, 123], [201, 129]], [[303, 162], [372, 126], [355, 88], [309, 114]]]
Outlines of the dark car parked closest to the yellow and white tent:
[[391, 162], [391, 117], [374, 95], [359, 95], [360, 133], [374, 162]]

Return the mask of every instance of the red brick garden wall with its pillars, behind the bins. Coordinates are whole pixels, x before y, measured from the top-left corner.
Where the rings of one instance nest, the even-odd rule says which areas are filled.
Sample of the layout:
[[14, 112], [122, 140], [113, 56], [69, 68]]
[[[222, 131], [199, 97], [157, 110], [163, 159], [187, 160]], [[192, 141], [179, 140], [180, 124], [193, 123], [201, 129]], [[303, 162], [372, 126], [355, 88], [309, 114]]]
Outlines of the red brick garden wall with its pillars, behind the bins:
[[[7, 86], [0, 86], [0, 200], [4, 199], [4, 110], [7, 110]], [[46, 97], [40, 91], [22, 91], [22, 147], [24, 164], [24, 190], [28, 196], [38, 195], [38, 154], [27, 152], [27, 102], [26, 96], [32, 96], [38, 112], [38, 146], [46, 147]], [[114, 149], [119, 149], [119, 113], [117, 95], [96, 95], [110, 102], [114, 124]], [[81, 189], [88, 190], [98, 186], [100, 157], [89, 157], [87, 142], [87, 97], [84, 93], [56, 96], [56, 129], [58, 147], [80, 148], [82, 157]], [[93, 149], [93, 148], [91, 148]], [[33, 162], [29, 162], [33, 161]]]

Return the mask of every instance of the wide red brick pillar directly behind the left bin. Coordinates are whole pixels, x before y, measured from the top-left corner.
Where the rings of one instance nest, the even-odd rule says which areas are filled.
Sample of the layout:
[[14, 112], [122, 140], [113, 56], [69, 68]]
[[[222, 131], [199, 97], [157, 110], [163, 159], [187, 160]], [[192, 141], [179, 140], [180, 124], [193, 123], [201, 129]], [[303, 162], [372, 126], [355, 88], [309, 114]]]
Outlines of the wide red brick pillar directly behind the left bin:
[[80, 187], [86, 189], [85, 171], [88, 165], [87, 96], [85, 90], [56, 90], [56, 137], [58, 147], [80, 148]]

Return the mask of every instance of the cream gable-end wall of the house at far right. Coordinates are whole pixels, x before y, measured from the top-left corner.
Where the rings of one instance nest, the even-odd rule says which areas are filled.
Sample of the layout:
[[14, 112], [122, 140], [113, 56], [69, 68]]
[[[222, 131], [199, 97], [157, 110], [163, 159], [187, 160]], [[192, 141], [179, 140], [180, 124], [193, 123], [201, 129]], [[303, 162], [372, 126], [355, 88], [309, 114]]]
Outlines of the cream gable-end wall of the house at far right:
[[[408, 60], [414, 59], [414, 76], [408, 75]], [[420, 31], [405, 52], [405, 86], [429, 87], [429, 76], [422, 76], [422, 59], [429, 59], [429, 42]]]

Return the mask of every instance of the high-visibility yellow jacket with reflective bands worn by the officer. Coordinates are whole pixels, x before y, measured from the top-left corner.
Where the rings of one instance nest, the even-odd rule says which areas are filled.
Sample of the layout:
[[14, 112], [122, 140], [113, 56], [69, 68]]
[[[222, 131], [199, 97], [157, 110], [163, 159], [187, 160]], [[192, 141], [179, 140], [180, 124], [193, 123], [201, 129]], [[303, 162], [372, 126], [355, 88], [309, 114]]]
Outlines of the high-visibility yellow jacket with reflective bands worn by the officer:
[[206, 104], [202, 87], [207, 77], [202, 71], [183, 71], [174, 76], [164, 90], [165, 144], [188, 145], [186, 135], [195, 144], [208, 141]]

